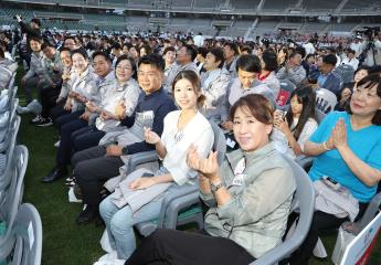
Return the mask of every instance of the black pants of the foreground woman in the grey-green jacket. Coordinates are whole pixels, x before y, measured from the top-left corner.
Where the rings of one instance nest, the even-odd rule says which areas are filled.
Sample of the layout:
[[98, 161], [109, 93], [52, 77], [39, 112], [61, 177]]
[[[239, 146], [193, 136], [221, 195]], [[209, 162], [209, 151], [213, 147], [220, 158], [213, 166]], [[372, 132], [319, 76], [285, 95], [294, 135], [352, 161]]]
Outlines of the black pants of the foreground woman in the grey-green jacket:
[[125, 265], [247, 265], [255, 258], [232, 240], [176, 230], [157, 230]]

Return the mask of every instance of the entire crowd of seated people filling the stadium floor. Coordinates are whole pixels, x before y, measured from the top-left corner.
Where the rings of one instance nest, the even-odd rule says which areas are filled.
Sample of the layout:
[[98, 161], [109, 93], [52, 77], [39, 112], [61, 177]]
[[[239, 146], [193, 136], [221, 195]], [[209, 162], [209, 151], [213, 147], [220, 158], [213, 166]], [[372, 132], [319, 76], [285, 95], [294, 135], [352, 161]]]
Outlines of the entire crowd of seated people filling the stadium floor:
[[[315, 158], [308, 174], [316, 190], [332, 181], [349, 192], [346, 205], [320, 205], [317, 197], [289, 264], [307, 264], [319, 234], [358, 220], [377, 193], [381, 73], [353, 63], [352, 50], [339, 57], [353, 68], [343, 83], [335, 49], [121, 35], [28, 41], [21, 88], [27, 104], [38, 95], [42, 106], [31, 124], [54, 125], [60, 136], [55, 165], [41, 181], [66, 177], [85, 205], [75, 222], [105, 223], [110, 250], [97, 265], [260, 258], [297, 215], [290, 206], [298, 187], [284, 156]], [[0, 46], [0, 92], [17, 71], [8, 51]], [[325, 89], [336, 110], [318, 120], [317, 93]], [[213, 150], [214, 125], [233, 142], [223, 161]], [[128, 168], [134, 155], [154, 150], [159, 163]], [[163, 198], [187, 186], [199, 187], [209, 209], [204, 230], [157, 230], [137, 246], [134, 225], [157, 219]]]

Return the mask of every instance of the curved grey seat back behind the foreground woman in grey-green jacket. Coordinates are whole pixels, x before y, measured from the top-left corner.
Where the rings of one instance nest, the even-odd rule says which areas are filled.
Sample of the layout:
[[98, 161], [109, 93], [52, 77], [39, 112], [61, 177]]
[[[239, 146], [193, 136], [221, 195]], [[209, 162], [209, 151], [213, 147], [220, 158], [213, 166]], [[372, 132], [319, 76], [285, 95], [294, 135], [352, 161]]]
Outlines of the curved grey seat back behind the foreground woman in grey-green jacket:
[[315, 191], [313, 182], [306, 171], [287, 156], [284, 156], [293, 169], [296, 192], [293, 205], [298, 205], [299, 221], [293, 234], [283, 243], [267, 252], [265, 255], [251, 263], [251, 265], [273, 265], [289, 256], [304, 242], [313, 221]]

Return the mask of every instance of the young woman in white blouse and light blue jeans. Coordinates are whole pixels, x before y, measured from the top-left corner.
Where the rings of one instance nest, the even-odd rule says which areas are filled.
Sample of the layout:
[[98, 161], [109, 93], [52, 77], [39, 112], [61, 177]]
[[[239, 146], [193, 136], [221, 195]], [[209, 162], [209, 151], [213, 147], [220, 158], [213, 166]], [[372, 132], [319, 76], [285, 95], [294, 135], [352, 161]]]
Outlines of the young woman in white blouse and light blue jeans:
[[[145, 131], [146, 141], [155, 145], [159, 157], [163, 159], [162, 167], [155, 173], [138, 169], [120, 182], [120, 190], [128, 187], [134, 200], [127, 199], [127, 202], [119, 204], [117, 189], [100, 203], [100, 215], [106, 223], [114, 252], [100, 257], [97, 265], [123, 264], [136, 247], [134, 224], [158, 218], [165, 194], [174, 191], [179, 186], [195, 184], [197, 172], [189, 168], [186, 161], [190, 145], [198, 147], [202, 158], [211, 151], [213, 130], [198, 110], [203, 100], [198, 75], [192, 71], [180, 72], [172, 87], [176, 103], [181, 110], [166, 116], [161, 139], [149, 128]], [[134, 180], [134, 177], [137, 178]]]

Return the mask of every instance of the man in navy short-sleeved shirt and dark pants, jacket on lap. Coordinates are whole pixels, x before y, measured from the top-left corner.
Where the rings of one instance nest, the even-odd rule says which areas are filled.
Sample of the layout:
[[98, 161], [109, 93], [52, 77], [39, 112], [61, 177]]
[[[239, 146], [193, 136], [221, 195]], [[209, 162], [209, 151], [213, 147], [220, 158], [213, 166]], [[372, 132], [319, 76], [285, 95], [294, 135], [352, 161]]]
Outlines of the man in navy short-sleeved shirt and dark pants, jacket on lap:
[[161, 87], [163, 70], [165, 62], [160, 56], [144, 56], [138, 63], [138, 83], [144, 93], [139, 96], [135, 114], [124, 120], [129, 129], [119, 135], [113, 145], [99, 145], [73, 156], [73, 173], [87, 204], [78, 215], [77, 224], [87, 224], [98, 216], [103, 182], [119, 174], [119, 167], [125, 165], [128, 155], [155, 150], [155, 145], [145, 141], [142, 127], [150, 127], [160, 136], [163, 118], [176, 109], [173, 100]]

